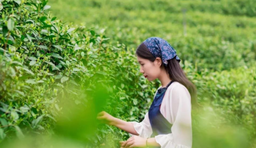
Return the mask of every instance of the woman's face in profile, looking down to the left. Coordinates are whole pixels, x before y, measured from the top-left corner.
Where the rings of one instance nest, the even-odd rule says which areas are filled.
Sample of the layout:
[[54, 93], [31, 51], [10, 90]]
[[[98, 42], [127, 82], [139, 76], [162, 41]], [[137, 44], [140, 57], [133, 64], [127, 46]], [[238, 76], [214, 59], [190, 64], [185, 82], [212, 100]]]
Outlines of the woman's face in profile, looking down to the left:
[[140, 73], [143, 73], [146, 79], [153, 81], [159, 77], [161, 73], [161, 58], [157, 57], [154, 62], [151, 62], [148, 59], [137, 56], [137, 60], [140, 64]]

